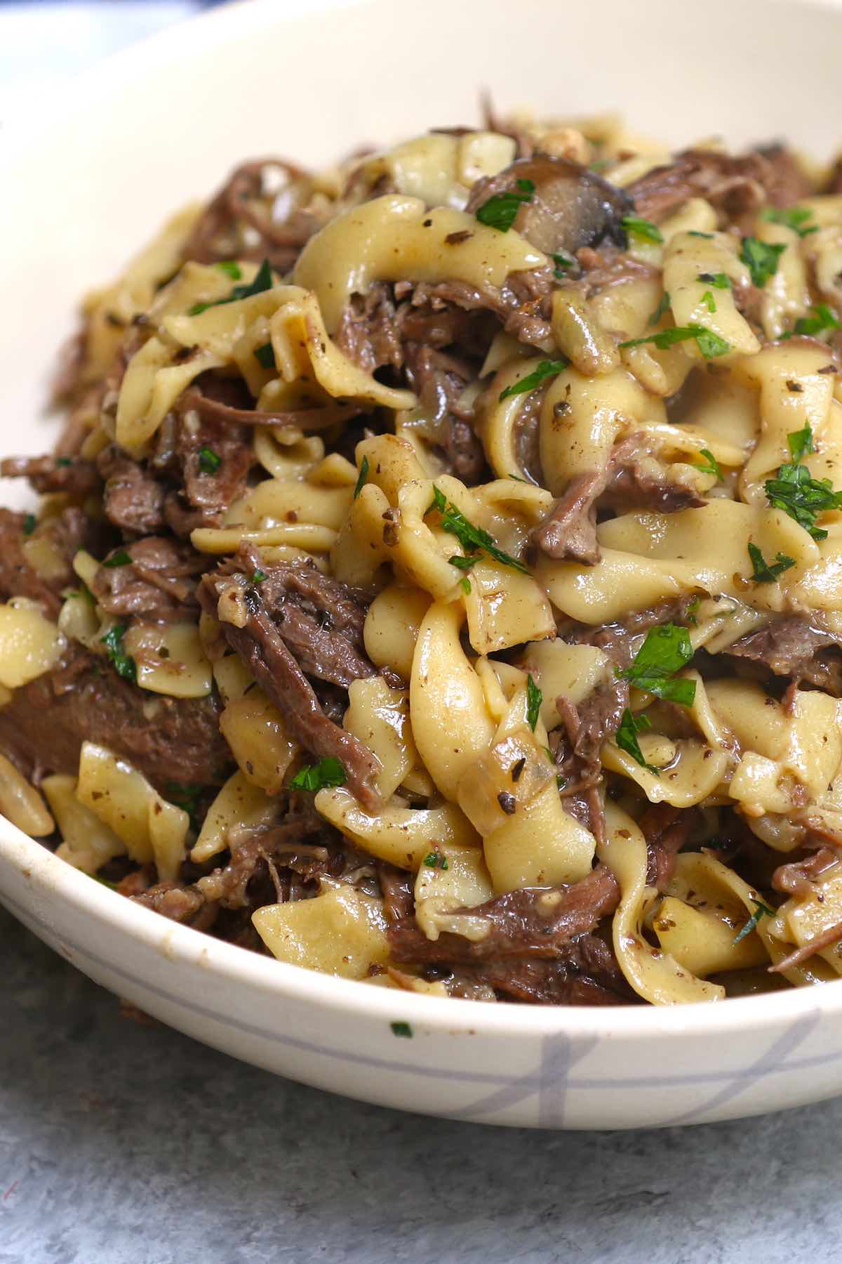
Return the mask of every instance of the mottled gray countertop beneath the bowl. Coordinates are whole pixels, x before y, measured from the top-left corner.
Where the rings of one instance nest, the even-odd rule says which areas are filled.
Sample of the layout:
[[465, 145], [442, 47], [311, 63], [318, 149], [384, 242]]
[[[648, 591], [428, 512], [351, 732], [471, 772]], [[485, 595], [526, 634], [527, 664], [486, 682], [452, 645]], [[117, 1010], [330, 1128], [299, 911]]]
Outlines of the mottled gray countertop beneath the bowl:
[[0, 910], [1, 1264], [824, 1264], [842, 1100], [660, 1133], [452, 1124], [121, 1018]]

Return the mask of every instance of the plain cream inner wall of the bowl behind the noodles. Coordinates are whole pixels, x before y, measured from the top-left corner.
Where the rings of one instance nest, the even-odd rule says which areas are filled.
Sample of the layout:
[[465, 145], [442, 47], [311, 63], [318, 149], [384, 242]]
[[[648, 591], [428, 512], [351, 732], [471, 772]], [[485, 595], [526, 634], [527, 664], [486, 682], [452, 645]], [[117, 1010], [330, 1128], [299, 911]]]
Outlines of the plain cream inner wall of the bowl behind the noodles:
[[[672, 0], [603, 0], [596, 34], [595, 11], [564, 0], [322, 9], [290, 16], [285, 5], [255, 0], [213, 11], [112, 59], [74, 101], [42, 110], [40, 130], [10, 121], [0, 210], [14, 244], [4, 259], [13, 301], [0, 339], [3, 453], [52, 442], [47, 383], [80, 295], [239, 159], [276, 153], [322, 164], [361, 143], [472, 123], [482, 87], [502, 109], [617, 110], [675, 145], [715, 133], [735, 144], [786, 135], [827, 157], [838, 140], [842, 10], [831, 4], [708, 0], [702, 20]], [[27, 493], [6, 482], [0, 497], [19, 503]], [[13, 833], [0, 822], [0, 851]], [[19, 852], [19, 837], [14, 846]], [[107, 899], [67, 873], [64, 894], [83, 886], [92, 909]], [[322, 999], [331, 988], [336, 995], [332, 981], [319, 981]], [[745, 1004], [726, 1009], [736, 1018]], [[371, 996], [370, 1005], [382, 1002]]]

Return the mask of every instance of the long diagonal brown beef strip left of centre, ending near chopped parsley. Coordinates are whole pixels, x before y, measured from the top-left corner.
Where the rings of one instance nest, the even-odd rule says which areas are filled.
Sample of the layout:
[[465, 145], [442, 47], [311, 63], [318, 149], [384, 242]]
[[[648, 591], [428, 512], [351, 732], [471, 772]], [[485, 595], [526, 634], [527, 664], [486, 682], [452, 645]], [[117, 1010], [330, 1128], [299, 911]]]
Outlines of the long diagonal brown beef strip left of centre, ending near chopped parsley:
[[[246, 568], [251, 566], [249, 555]], [[236, 562], [234, 564], [236, 568]], [[254, 566], [245, 574], [254, 574]], [[369, 810], [380, 806], [375, 789], [377, 765], [371, 752], [352, 733], [340, 728], [324, 714], [312, 684], [287, 647], [279, 628], [270, 618], [260, 589], [232, 575], [231, 565], [205, 575], [198, 589], [202, 608], [218, 617], [218, 602], [231, 584], [242, 590], [245, 623], [237, 627], [222, 621], [222, 632], [236, 653], [251, 669], [266, 696], [287, 720], [290, 736], [317, 758], [338, 758], [348, 786]]]

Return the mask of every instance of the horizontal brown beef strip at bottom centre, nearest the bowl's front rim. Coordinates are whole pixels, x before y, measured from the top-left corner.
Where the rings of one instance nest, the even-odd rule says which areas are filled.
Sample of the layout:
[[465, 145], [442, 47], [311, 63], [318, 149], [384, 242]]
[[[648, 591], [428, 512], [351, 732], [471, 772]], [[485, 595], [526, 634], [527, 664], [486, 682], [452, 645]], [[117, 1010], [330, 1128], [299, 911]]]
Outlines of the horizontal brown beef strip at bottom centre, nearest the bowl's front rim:
[[497, 895], [475, 909], [462, 909], [487, 923], [483, 939], [443, 932], [428, 939], [414, 918], [388, 928], [398, 962], [487, 962], [502, 958], [563, 958], [577, 935], [593, 930], [620, 901], [617, 881], [605, 865], [572, 886], [523, 887]]

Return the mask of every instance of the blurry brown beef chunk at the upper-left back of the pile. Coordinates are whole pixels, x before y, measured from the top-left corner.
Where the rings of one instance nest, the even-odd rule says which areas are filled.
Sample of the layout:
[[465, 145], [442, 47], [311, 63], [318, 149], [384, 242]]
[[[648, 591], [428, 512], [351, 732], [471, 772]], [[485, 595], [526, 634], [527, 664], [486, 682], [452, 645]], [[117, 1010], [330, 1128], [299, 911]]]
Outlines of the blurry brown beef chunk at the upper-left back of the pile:
[[321, 219], [295, 200], [284, 217], [275, 216], [276, 195], [266, 188], [271, 172], [283, 172], [288, 186], [309, 190], [309, 176], [283, 158], [242, 163], [206, 206], [184, 245], [184, 258], [198, 263], [252, 259], [289, 272]]

